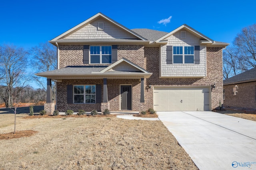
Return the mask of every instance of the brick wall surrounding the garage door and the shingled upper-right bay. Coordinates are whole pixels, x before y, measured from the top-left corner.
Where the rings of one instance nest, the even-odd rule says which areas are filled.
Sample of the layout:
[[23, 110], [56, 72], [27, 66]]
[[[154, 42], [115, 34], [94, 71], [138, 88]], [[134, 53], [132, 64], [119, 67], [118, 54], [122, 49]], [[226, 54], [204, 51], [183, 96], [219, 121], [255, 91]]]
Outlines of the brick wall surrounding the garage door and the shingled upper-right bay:
[[[204, 78], [160, 78], [159, 75], [159, 48], [145, 47], [146, 70], [153, 72], [152, 76], [145, 81], [145, 87], [151, 86], [208, 86], [216, 84], [211, 92], [212, 108], [219, 106], [219, 100], [223, 103], [223, 80], [222, 80], [222, 48], [207, 47], [206, 49], [206, 70]], [[153, 108], [153, 88], [145, 90], [145, 102], [147, 108]]]

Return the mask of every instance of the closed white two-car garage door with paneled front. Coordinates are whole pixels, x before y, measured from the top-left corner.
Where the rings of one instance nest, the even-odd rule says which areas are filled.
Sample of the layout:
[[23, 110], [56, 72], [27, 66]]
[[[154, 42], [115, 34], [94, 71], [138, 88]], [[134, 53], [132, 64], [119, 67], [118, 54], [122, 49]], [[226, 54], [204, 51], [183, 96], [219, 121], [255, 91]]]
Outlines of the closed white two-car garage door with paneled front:
[[210, 88], [154, 87], [156, 111], [209, 111]]

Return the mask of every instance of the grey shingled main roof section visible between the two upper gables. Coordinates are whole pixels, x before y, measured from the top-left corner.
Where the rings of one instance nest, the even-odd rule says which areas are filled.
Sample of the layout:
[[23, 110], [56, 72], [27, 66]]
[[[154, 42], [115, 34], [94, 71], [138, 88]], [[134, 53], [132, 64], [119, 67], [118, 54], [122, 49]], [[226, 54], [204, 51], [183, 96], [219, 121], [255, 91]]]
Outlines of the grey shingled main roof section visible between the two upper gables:
[[150, 41], [156, 41], [157, 39], [160, 39], [164, 35], [168, 34], [168, 32], [157, 31], [147, 28], [136, 28], [131, 30]]

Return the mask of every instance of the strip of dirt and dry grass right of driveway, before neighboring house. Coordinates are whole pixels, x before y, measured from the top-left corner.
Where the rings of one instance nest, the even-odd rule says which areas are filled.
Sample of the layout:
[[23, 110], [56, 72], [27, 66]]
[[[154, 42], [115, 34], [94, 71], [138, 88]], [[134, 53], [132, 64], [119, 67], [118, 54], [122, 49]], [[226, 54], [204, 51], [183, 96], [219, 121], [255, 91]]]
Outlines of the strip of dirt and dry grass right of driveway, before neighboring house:
[[218, 113], [240, 117], [243, 119], [248, 119], [256, 121], [256, 109], [244, 109], [244, 108], [225, 108], [222, 110], [214, 110]]

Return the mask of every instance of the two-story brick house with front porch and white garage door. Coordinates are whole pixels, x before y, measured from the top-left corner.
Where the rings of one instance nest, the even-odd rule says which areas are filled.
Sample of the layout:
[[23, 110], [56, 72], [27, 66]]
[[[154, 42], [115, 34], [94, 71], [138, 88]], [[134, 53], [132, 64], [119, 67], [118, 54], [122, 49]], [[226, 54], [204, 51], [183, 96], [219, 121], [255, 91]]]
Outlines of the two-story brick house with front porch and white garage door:
[[[66, 111], [212, 110], [222, 100], [222, 49], [188, 25], [170, 33], [128, 29], [98, 13], [50, 41], [58, 69], [56, 109]], [[54, 104], [47, 98], [45, 109]]]

